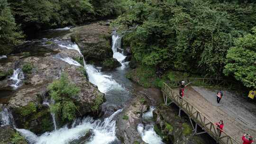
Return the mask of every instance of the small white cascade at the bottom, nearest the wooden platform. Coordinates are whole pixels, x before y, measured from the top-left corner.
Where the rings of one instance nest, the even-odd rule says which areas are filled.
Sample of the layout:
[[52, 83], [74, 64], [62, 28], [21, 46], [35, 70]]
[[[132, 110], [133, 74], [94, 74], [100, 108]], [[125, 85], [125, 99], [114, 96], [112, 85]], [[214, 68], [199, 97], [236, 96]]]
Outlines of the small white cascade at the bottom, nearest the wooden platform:
[[165, 144], [162, 142], [162, 138], [155, 133], [153, 125], [146, 125], [144, 129], [143, 124], [138, 124], [137, 131], [147, 144]]

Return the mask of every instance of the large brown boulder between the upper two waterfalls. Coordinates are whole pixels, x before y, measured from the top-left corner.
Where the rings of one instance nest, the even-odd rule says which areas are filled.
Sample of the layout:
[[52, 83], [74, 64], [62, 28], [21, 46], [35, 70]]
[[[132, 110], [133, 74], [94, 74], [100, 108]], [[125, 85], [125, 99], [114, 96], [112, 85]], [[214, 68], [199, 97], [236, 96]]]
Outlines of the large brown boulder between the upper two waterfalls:
[[111, 30], [100, 22], [70, 30], [71, 40], [81, 49], [86, 61], [103, 61], [113, 56], [111, 49]]

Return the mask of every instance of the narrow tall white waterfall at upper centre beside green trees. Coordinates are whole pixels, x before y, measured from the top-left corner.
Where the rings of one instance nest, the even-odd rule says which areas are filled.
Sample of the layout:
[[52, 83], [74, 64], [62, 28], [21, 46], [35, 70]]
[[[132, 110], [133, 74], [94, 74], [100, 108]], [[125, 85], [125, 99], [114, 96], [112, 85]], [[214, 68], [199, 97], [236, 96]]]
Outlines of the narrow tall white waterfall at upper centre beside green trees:
[[126, 63], [123, 62], [126, 58], [125, 55], [118, 52], [118, 49], [121, 48], [121, 39], [122, 37], [113, 34], [112, 35], [112, 51], [113, 51], [113, 58], [117, 59], [119, 63], [122, 64], [121, 69], [124, 69], [126, 67]]

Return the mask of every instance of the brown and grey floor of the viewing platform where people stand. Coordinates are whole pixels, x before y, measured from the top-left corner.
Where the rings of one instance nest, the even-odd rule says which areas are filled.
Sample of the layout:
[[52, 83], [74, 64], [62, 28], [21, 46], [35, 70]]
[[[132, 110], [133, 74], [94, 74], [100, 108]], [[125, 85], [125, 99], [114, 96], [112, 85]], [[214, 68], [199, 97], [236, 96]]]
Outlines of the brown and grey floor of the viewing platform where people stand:
[[[178, 93], [178, 89], [175, 90]], [[223, 92], [220, 104], [216, 102], [217, 91], [202, 87], [186, 88], [185, 99], [213, 122], [222, 119], [224, 131], [238, 142], [241, 142], [241, 136], [245, 133], [256, 138], [256, 105], [248, 104], [239, 97], [235, 99], [230, 92]]]

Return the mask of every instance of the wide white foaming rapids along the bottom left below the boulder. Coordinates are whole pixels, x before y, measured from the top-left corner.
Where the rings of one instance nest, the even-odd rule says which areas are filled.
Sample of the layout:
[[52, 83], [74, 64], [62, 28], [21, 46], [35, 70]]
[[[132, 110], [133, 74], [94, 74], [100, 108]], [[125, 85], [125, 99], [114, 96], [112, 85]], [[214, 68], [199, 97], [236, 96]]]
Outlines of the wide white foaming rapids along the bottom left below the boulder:
[[64, 126], [56, 131], [46, 132], [40, 136], [26, 129], [17, 130], [27, 139], [29, 144], [68, 144], [73, 140], [81, 138], [92, 129], [93, 135], [91, 135], [91, 139], [86, 144], [109, 144], [117, 139], [114, 117], [121, 111], [121, 109], [116, 111], [110, 117], [105, 118], [103, 122], [94, 120], [92, 117], [86, 117], [79, 125], [70, 129]]

